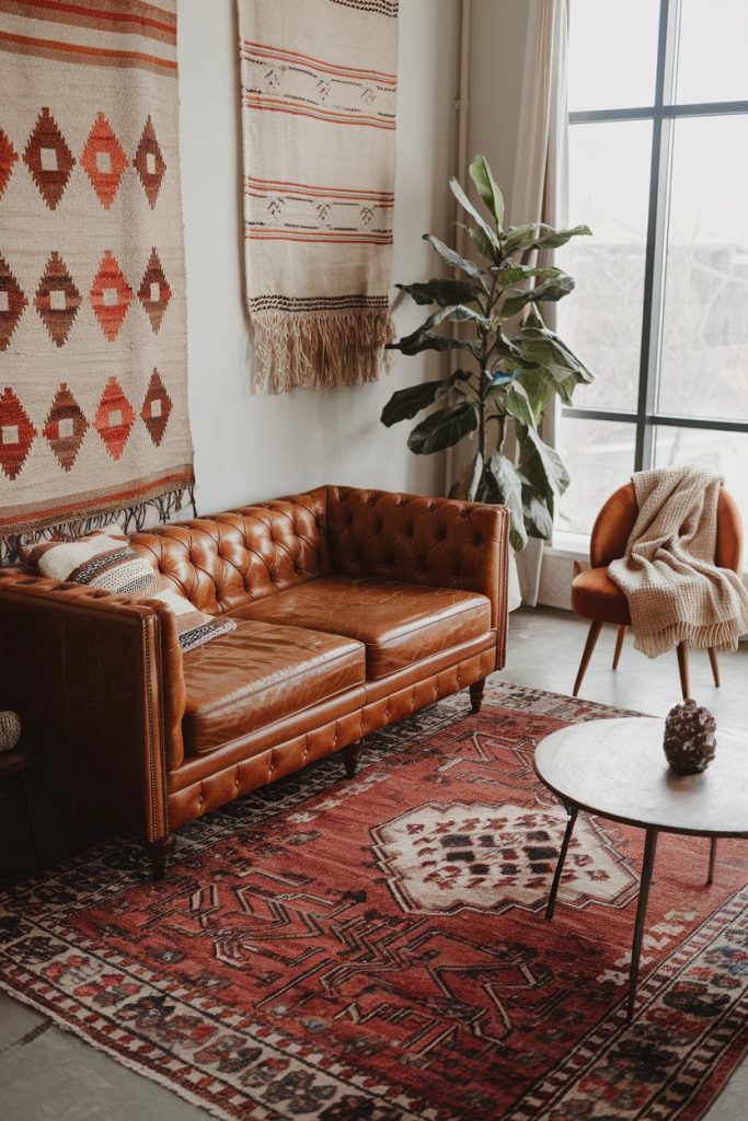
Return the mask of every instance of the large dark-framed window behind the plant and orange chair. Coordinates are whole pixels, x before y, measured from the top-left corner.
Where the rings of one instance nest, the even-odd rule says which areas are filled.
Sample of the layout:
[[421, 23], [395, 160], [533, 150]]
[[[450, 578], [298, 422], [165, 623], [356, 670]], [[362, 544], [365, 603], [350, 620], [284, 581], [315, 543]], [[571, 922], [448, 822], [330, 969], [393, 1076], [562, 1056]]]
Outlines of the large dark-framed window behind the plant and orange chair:
[[748, 519], [748, 0], [571, 0], [557, 529], [643, 467], [721, 473]]

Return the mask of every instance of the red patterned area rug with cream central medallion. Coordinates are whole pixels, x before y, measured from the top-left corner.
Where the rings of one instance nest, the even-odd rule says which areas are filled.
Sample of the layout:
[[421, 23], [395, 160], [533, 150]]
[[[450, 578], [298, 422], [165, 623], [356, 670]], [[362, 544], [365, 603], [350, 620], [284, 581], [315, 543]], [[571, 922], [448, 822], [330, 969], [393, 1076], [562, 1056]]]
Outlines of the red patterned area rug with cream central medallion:
[[[746, 1051], [748, 852], [663, 836], [626, 1022], [639, 831], [563, 813], [534, 745], [620, 715], [495, 685], [185, 830], [0, 899], [21, 1000], [220, 1118], [692, 1121]], [[604, 751], [601, 741], [600, 750]]]

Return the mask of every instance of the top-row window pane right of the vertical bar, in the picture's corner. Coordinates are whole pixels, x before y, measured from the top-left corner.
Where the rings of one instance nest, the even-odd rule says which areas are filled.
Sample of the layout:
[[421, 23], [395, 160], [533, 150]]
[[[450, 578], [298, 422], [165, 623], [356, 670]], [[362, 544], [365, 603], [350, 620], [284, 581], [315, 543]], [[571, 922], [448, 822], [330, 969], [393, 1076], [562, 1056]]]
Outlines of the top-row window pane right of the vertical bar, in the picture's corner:
[[676, 100], [748, 101], [746, 44], [746, 0], [682, 0]]

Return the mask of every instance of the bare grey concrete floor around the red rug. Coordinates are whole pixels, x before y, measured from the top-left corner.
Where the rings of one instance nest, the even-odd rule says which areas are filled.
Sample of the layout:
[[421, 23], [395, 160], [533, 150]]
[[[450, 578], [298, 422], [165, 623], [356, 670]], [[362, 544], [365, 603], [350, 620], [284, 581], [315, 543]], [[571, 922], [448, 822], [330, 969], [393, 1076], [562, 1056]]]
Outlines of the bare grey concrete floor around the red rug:
[[[509, 657], [500, 675], [518, 685], [571, 693], [587, 627], [560, 611], [511, 617]], [[675, 656], [649, 661], [631, 643], [611, 673], [616, 629], [603, 632], [582, 696], [664, 715], [680, 700]], [[692, 655], [691, 692], [722, 726], [745, 726], [748, 648], [722, 658], [714, 688], [705, 654]], [[702, 1121], [741, 1121], [748, 1101], [745, 1062]], [[205, 1121], [207, 1114], [168, 1090], [61, 1031], [49, 1019], [0, 993], [0, 1118], [3, 1121]]]

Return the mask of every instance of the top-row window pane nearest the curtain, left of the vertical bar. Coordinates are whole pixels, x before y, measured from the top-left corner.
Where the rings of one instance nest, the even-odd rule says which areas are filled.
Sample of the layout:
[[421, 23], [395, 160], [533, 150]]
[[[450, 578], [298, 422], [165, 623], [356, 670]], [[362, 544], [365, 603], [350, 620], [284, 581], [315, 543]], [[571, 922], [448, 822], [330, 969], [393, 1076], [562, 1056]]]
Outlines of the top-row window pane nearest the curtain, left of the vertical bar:
[[572, 0], [569, 109], [654, 104], [658, 22], [657, 0]]

